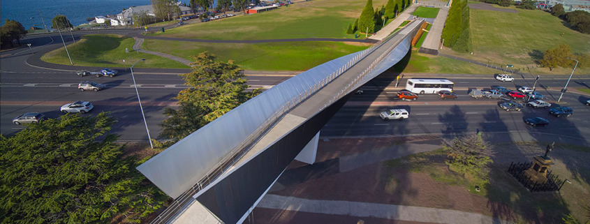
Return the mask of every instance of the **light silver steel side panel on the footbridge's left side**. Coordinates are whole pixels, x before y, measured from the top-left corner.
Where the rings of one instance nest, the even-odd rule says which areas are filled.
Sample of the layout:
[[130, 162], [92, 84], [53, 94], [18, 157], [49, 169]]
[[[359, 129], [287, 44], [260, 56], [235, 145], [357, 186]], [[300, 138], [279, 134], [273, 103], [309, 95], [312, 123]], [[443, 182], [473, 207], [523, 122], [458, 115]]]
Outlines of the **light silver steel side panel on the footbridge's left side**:
[[283, 105], [332, 75], [357, 54], [360, 52], [328, 61], [277, 84], [191, 133], [137, 169], [164, 193], [178, 197], [205, 177], [263, 122], [282, 110]]

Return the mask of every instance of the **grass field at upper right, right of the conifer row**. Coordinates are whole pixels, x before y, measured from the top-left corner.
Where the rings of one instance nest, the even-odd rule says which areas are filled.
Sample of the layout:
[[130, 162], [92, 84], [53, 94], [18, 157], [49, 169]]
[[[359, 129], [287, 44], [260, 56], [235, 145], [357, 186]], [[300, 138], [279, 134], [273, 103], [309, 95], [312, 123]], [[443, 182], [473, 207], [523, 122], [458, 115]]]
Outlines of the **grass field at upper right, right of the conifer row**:
[[[541, 10], [522, 10], [510, 6], [518, 13], [503, 13], [489, 10], [471, 10], [471, 35], [473, 55], [461, 54], [443, 49], [444, 53], [455, 54], [477, 61], [494, 61], [494, 64], [515, 68], [536, 67], [545, 50], [557, 45], [568, 44], [573, 52], [590, 52], [590, 35], [574, 31], [563, 24], [563, 20]], [[494, 21], [494, 22], [490, 22]], [[565, 33], [561, 36], [561, 33]], [[564, 74], [571, 68], [548, 68], [532, 70], [533, 74]], [[576, 70], [577, 74], [590, 73], [589, 68]]]

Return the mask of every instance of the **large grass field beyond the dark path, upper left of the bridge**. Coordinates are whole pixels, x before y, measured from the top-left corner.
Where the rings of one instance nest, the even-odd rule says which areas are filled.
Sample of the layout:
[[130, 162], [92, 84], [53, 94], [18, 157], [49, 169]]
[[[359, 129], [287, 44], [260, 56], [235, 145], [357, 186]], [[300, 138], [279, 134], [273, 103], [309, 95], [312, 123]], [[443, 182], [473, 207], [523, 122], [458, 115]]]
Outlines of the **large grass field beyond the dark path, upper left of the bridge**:
[[[354, 34], [346, 34], [346, 27], [355, 22], [366, 3], [360, 0], [302, 1], [263, 13], [187, 24], [152, 35], [216, 40], [354, 38]], [[385, 3], [386, 0], [376, 0], [373, 7]]]

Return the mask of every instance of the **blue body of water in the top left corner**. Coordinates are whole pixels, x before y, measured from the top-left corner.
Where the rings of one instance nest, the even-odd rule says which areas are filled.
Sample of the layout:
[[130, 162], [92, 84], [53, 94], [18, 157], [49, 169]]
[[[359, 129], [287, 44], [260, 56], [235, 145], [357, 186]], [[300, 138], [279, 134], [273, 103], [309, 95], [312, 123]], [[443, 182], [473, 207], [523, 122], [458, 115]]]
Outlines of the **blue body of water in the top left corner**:
[[123, 8], [150, 4], [152, 2], [149, 0], [2, 0], [0, 19], [2, 25], [6, 19], [10, 19], [20, 22], [24, 29], [31, 29], [33, 26], [43, 28], [40, 15], [43, 16], [45, 25], [50, 27], [51, 19], [59, 13], [66, 15], [76, 26], [87, 23], [86, 17], [116, 15]]

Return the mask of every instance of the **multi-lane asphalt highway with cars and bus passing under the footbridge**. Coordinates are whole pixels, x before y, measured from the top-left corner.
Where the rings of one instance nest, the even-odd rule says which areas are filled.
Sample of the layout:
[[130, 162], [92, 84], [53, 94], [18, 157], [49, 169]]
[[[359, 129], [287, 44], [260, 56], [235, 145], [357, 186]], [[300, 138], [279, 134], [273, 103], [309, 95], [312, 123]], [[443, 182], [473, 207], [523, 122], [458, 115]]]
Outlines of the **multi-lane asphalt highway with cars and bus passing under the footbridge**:
[[[57, 43], [51, 38], [39, 37], [30, 40], [35, 43], [35, 54], [43, 54], [54, 49]], [[43, 112], [50, 118], [61, 115], [59, 106], [75, 100], [88, 100], [94, 103], [96, 114], [110, 111], [119, 122], [113, 131], [121, 135], [121, 141], [147, 140], [137, 96], [133, 88], [131, 73], [119, 70], [116, 77], [79, 77], [71, 70], [45, 69], [30, 66], [30, 50], [22, 48], [3, 52], [1, 58], [0, 83], [0, 125], [3, 135], [13, 135], [25, 128], [11, 123], [14, 117], [25, 112]], [[165, 107], [176, 107], [172, 98], [186, 86], [177, 74], [185, 70], [136, 69], [135, 80], [145, 109], [146, 119], [152, 137], [161, 132], [158, 124], [165, 119]], [[270, 88], [290, 78], [293, 73], [271, 73], [247, 71], [246, 78], [251, 88]], [[528, 133], [529, 135], [552, 135], [584, 140], [590, 137], [590, 107], [582, 102], [590, 96], [569, 91], [560, 103], [559, 89], [567, 82], [567, 75], [542, 75], [537, 83], [537, 91], [545, 94], [546, 100], [557, 105], [573, 107], [570, 118], [551, 117], [547, 109], [525, 108], [523, 112], [500, 110], [497, 100], [475, 100], [467, 95], [468, 89], [501, 85], [516, 89], [520, 85], [533, 85], [533, 75], [515, 76], [515, 82], [499, 82], [493, 75], [452, 75], [452, 74], [408, 74], [399, 80], [395, 87], [397, 74], [385, 72], [363, 87], [364, 94], [355, 95], [328, 122], [321, 135], [324, 137], [375, 136], [375, 135], [446, 135], [452, 137], [462, 133]], [[434, 95], [420, 96], [413, 102], [398, 100], [395, 96], [403, 89], [408, 77], [445, 77], [455, 82], [457, 100], [441, 100]], [[107, 85], [103, 91], [78, 91], [77, 85], [90, 80]], [[577, 75], [568, 89], [588, 88], [590, 75]], [[378, 113], [403, 107], [411, 112], [406, 121], [383, 121]], [[531, 128], [523, 119], [545, 117], [551, 124], [547, 128]], [[531, 134], [532, 133], [532, 134]]]

